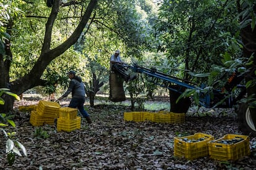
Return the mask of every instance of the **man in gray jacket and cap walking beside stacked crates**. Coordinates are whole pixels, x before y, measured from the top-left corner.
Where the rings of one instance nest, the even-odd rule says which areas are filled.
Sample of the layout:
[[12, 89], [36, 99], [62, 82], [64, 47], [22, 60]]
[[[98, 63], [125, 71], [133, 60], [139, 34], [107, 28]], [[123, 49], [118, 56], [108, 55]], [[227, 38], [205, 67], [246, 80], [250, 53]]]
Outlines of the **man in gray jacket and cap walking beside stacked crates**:
[[69, 107], [78, 108], [83, 118], [87, 120], [87, 123], [92, 123], [90, 115], [83, 107], [85, 103], [85, 86], [82, 82], [82, 79], [79, 76], [75, 76], [75, 71], [73, 70], [69, 71], [67, 74], [69, 75], [70, 79], [69, 88], [61, 97], [59, 97], [58, 100], [67, 97], [67, 95], [69, 95], [70, 92], [72, 92], [72, 99], [69, 103]]

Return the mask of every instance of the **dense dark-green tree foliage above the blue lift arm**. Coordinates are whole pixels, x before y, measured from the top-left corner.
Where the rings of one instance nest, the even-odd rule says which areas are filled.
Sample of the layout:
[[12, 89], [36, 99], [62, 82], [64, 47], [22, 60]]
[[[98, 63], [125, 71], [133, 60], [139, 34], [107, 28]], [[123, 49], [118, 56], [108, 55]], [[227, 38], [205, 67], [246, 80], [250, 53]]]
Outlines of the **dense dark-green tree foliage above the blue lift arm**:
[[[224, 1], [163, 1], [160, 7], [158, 32], [159, 50], [166, 51], [169, 65], [174, 68], [203, 73], [213, 63], [220, 65], [219, 56], [228, 51], [240, 54], [238, 22], [233, 20], [236, 5]], [[180, 78], [188, 78], [186, 72]], [[190, 81], [203, 83], [206, 78]]]

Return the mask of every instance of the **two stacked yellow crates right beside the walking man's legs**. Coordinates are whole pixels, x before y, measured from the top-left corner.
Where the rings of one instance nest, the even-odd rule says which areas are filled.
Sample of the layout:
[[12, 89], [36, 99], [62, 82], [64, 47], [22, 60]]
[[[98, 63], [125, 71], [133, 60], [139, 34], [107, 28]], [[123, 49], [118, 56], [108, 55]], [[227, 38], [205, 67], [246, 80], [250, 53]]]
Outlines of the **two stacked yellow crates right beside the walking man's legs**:
[[81, 117], [77, 116], [77, 108], [63, 107], [59, 109], [57, 131], [71, 132], [81, 128]]

